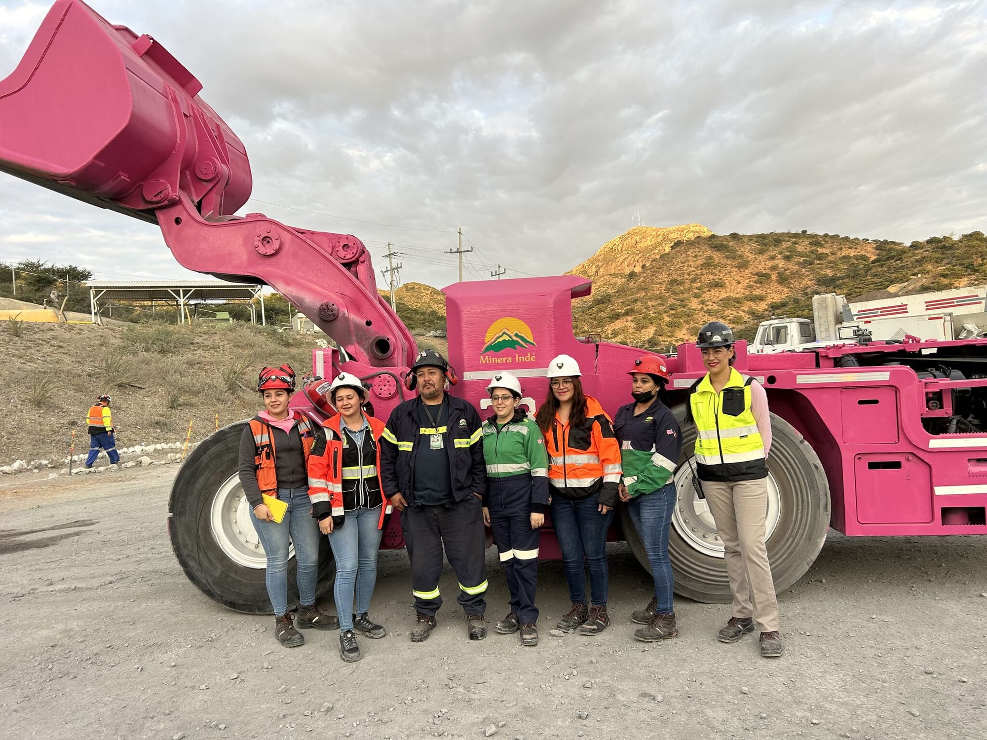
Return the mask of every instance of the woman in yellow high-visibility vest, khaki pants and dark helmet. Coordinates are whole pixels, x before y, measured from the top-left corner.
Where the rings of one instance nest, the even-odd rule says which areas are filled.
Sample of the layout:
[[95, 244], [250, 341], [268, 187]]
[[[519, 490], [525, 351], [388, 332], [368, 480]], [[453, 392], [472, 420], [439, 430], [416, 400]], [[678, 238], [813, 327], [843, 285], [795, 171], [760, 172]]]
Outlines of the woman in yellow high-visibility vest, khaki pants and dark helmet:
[[778, 599], [765, 547], [768, 396], [756, 380], [733, 369], [733, 332], [725, 324], [703, 327], [696, 346], [708, 371], [689, 396], [697, 430], [697, 474], [723, 542], [733, 594], [730, 619], [718, 637], [736, 642], [756, 626], [761, 655], [777, 657], [785, 645], [778, 633]]

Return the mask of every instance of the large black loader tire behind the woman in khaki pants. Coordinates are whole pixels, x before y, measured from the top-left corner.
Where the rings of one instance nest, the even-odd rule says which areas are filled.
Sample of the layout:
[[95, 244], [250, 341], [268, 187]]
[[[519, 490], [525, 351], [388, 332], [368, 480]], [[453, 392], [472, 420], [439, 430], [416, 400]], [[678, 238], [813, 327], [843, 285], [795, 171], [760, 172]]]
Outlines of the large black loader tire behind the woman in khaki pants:
[[[682, 429], [682, 456], [675, 472], [678, 502], [668, 543], [668, 555], [675, 574], [675, 593], [708, 604], [726, 604], [731, 600], [726, 564], [722, 556], [710, 555], [693, 543], [709, 543], [713, 548], [720, 540], [716, 530], [698, 523], [695, 506], [702, 510], [693, 489], [686, 458], [692, 457], [696, 428], [685, 424], [685, 407], [675, 407], [675, 418]], [[819, 456], [794, 426], [771, 414], [772, 443], [768, 472], [778, 490], [778, 521], [768, 538], [768, 558], [775, 580], [775, 590], [783, 591], [797, 582], [819, 555], [829, 531], [829, 482]], [[650, 570], [644, 545], [634, 528], [627, 507], [621, 506], [621, 522], [631, 552]], [[712, 517], [705, 517], [712, 522]], [[692, 543], [680, 528], [697, 527]], [[703, 535], [708, 535], [704, 538]]]

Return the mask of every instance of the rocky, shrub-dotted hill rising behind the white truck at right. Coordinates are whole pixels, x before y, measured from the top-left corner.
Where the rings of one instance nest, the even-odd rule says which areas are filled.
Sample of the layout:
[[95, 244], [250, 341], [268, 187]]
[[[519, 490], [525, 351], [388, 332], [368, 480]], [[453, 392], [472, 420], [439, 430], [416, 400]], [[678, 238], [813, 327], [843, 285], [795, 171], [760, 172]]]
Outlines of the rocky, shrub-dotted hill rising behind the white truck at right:
[[[749, 339], [772, 315], [810, 317], [816, 293], [858, 300], [889, 287], [904, 295], [987, 281], [980, 232], [908, 246], [838, 234], [697, 233], [667, 248], [664, 235], [653, 233], [661, 231], [632, 229], [583, 262], [598, 264], [606, 251], [615, 267], [573, 304], [576, 333], [667, 349], [719, 319]], [[579, 267], [573, 272], [583, 274]]]

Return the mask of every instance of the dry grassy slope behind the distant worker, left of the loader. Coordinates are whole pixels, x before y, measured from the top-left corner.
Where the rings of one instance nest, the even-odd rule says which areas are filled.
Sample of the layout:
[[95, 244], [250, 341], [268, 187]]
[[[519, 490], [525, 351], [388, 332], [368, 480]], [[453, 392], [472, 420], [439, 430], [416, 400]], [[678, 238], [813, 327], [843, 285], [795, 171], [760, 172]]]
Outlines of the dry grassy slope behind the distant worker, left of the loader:
[[[111, 378], [133, 384], [113, 388], [119, 447], [184, 440], [190, 420], [192, 439], [202, 439], [214, 428], [217, 413], [222, 426], [249, 418], [260, 407], [256, 394], [231, 394], [223, 387], [225, 369], [243, 368], [241, 382], [252, 391], [264, 365], [288, 362], [299, 375], [307, 372], [314, 346], [311, 334], [289, 335], [282, 344], [261, 327], [242, 324], [27, 326], [21, 339], [8, 340], [0, 364], [0, 385], [27, 399], [11, 405], [0, 425], [0, 465], [63, 454], [60, 440], [73, 427], [81, 428], [86, 409]], [[121, 372], [125, 362], [94, 362], [94, 347], [108, 360], [128, 361], [129, 373]], [[162, 353], [168, 347], [173, 350]], [[38, 380], [33, 388], [31, 378], [54, 380]]]

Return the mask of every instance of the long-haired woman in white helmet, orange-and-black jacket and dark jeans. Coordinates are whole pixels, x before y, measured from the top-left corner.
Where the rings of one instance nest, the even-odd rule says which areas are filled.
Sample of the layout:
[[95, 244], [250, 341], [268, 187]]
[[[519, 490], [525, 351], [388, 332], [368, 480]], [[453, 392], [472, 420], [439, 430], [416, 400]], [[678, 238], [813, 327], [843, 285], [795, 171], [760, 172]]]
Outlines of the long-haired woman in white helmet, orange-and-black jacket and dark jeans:
[[[561, 354], [549, 364], [549, 394], [536, 420], [550, 456], [552, 526], [562, 549], [572, 608], [559, 629], [596, 634], [607, 616], [607, 530], [621, 478], [620, 445], [610, 417], [582, 392], [578, 363]], [[586, 570], [591, 603], [586, 606]]]

